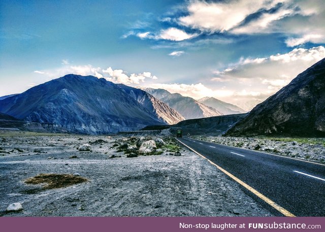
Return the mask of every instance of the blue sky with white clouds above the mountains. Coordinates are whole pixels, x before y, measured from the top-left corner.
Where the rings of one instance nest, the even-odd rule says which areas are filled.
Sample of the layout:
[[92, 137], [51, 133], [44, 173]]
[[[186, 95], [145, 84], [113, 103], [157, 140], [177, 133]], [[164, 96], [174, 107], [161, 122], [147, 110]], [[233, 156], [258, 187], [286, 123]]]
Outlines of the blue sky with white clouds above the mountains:
[[325, 57], [324, 5], [3, 0], [0, 95], [76, 73], [250, 110]]

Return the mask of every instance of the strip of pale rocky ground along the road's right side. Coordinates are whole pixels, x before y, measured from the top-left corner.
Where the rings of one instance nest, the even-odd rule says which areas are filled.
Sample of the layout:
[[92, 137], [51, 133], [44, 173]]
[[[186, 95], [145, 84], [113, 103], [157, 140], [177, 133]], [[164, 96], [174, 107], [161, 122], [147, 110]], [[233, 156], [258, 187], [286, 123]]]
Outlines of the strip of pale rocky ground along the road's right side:
[[212, 136], [193, 136], [193, 138], [325, 163], [324, 138], [242, 138]]

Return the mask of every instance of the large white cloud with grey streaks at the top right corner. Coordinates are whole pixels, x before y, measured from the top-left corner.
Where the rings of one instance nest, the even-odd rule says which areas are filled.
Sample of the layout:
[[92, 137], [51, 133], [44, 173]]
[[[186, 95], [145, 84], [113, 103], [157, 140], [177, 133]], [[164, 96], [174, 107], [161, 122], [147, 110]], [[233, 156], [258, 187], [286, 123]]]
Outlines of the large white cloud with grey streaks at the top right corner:
[[192, 0], [184, 8], [187, 15], [170, 18], [179, 25], [202, 32], [266, 34], [280, 32], [288, 47], [325, 43], [323, 0]]

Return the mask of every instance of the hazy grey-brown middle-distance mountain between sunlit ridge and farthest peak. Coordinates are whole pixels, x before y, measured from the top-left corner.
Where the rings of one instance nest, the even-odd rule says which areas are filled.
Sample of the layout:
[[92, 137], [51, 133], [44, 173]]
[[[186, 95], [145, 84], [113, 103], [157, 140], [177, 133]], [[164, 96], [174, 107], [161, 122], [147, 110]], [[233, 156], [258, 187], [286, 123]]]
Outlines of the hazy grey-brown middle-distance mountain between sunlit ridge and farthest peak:
[[166, 103], [180, 113], [185, 119], [206, 118], [222, 115], [216, 109], [206, 106], [188, 96], [170, 93], [165, 89], [143, 88], [146, 92]]

